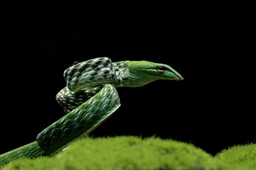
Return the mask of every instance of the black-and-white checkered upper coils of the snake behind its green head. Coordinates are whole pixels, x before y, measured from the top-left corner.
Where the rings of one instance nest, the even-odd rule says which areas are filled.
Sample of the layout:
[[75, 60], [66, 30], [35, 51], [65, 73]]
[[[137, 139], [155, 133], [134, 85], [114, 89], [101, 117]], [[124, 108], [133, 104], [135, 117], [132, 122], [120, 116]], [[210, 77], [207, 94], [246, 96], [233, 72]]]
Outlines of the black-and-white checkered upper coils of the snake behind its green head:
[[[64, 72], [67, 86], [58, 92], [56, 100], [64, 108], [64, 111], [69, 113], [100, 91], [103, 84], [110, 83], [113, 86], [129, 84], [132, 79], [127, 74], [128, 62], [112, 62], [109, 58], [102, 57], [69, 67]], [[100, 70], [105, 71], [101, 72]], [[83, 73], [85, 71], [87, 71], [86, 74]], [[82, 86], [78, 88], [75, 86], [75, 82]]]

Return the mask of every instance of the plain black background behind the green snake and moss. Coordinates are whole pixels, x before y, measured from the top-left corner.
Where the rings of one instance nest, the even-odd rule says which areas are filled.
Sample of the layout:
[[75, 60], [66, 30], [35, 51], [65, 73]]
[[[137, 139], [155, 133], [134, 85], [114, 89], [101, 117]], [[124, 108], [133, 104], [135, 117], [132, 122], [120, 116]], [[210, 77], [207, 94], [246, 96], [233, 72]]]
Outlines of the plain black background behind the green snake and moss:
[[2, 7], [0, 153], [33, 142], [64, 115], [55, 101], [65, 86], [63, 71], [95, 57], [169, 64], [184, 80], [117, 89], [122, 107], [92, 135], [156, 135], [211, 154], [255, 142], [253, 77], [245, 58], [252, 45], [240, 8], [186, 1]]

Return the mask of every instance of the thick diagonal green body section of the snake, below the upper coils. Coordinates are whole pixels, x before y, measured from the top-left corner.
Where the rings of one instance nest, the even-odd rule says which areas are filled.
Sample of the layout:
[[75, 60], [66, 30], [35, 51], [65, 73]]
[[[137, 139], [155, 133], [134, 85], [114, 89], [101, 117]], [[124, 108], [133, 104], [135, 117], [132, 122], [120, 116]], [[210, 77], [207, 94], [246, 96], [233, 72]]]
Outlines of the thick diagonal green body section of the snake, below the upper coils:
[[101, 91], [78, 108], [43, 130], [37, 137], [38, 145], [53, 154], [69, 142], [87, 135], [120, 106], [114, 86], [106, 84]]

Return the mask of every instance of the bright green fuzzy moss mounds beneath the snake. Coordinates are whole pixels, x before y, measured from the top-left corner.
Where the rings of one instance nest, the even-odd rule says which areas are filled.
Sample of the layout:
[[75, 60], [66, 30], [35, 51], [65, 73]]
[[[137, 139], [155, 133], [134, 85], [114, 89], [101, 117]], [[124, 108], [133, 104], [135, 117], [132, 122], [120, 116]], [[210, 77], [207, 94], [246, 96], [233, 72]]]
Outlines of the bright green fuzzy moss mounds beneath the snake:
[[53, 157], [16, 159], [3, 170], [256, 170], [256, 145], [236, 146], [215, 157], [191, 144], [157, 137], [86, 137]]

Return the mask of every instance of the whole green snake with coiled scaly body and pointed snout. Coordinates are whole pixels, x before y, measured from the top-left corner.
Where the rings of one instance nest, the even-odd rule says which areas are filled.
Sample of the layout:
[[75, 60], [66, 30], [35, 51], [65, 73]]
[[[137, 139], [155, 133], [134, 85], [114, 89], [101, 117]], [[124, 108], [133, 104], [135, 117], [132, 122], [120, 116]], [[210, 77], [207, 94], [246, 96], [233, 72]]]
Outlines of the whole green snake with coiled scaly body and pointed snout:
[[115, 87], [139, 87], [158, 79], [181, 80], [169, 65], [147, 61], [112, 62], [100, 57], [73, 64], [64, 72], [67, 83], [56, 95], [67, 113], [23, 147], [0, 155], [0, 166], [20, 157], [53, 155], [89, 134], [120, 106]]

